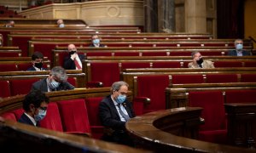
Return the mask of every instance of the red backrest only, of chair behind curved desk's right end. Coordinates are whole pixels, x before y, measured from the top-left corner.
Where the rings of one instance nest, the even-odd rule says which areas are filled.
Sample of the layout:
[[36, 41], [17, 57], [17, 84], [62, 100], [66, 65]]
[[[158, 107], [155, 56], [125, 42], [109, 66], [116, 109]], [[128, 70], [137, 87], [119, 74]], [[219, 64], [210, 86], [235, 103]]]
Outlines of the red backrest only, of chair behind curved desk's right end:
[[205, 119], [205, 124], [200, 127], [202, 131], [226, 128], [224, 96], [221, 91], [189, 92], [189, 106], [203, 108], [201, 117]]

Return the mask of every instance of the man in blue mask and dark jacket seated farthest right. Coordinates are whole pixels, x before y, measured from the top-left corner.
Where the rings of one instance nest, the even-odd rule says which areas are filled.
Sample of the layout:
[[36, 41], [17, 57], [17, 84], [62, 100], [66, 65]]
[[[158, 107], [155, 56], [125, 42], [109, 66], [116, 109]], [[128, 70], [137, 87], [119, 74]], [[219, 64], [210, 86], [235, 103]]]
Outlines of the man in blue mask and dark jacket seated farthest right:
[[252, 55], [251, 52], [243, 49], [243, 41], [241, 39], [236, 39], [235, 42], [235, 50], [230, 50], [228, 55], [230, 56], [249, 56]]

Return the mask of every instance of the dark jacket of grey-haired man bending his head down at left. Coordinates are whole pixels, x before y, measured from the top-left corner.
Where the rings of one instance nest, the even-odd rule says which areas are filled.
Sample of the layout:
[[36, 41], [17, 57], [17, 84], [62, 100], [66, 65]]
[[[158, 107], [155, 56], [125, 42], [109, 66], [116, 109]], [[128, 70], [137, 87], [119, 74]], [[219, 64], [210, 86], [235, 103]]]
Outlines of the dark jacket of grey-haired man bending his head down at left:
[[[47, 78], [41, 79], [38, 82], [34, 82], [32, 84], [32, 90], [41, 90], [42, 92], [48, 92], [48, 86], [47, 86]], [[55, 91], [61, 91], [61, 90], [71, 90], [73, 89], [73, 85], [69, 82], [61, 82], [60, 86], [58, 88], [55, 88]]]

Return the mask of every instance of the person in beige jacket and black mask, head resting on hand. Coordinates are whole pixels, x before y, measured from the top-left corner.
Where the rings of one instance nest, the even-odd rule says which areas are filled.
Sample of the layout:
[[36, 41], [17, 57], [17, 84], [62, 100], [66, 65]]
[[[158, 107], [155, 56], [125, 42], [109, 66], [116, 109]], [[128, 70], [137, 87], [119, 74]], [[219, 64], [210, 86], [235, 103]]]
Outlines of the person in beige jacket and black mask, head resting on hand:
[[189, 63], [188, 67], [189, 68], [214, 68], [213, 62], [210, 60], [204, 60], [201, 57], [200, 52], [193, 52], [192, 54], [193, 61]]

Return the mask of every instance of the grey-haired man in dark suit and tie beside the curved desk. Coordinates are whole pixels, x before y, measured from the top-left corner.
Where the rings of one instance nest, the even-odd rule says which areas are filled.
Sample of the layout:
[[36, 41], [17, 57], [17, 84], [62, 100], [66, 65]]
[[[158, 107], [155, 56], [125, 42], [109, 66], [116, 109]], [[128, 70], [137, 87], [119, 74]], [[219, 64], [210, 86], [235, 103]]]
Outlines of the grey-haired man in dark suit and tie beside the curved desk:
[[126, 82], [113, 82], [111, 95], [99, 105], [99, 116], [105, 127], [103, 140], [134, 146], [125, 129], [125, 122], [135, 117], [131, 103], [126, 99], [129, 85]]

